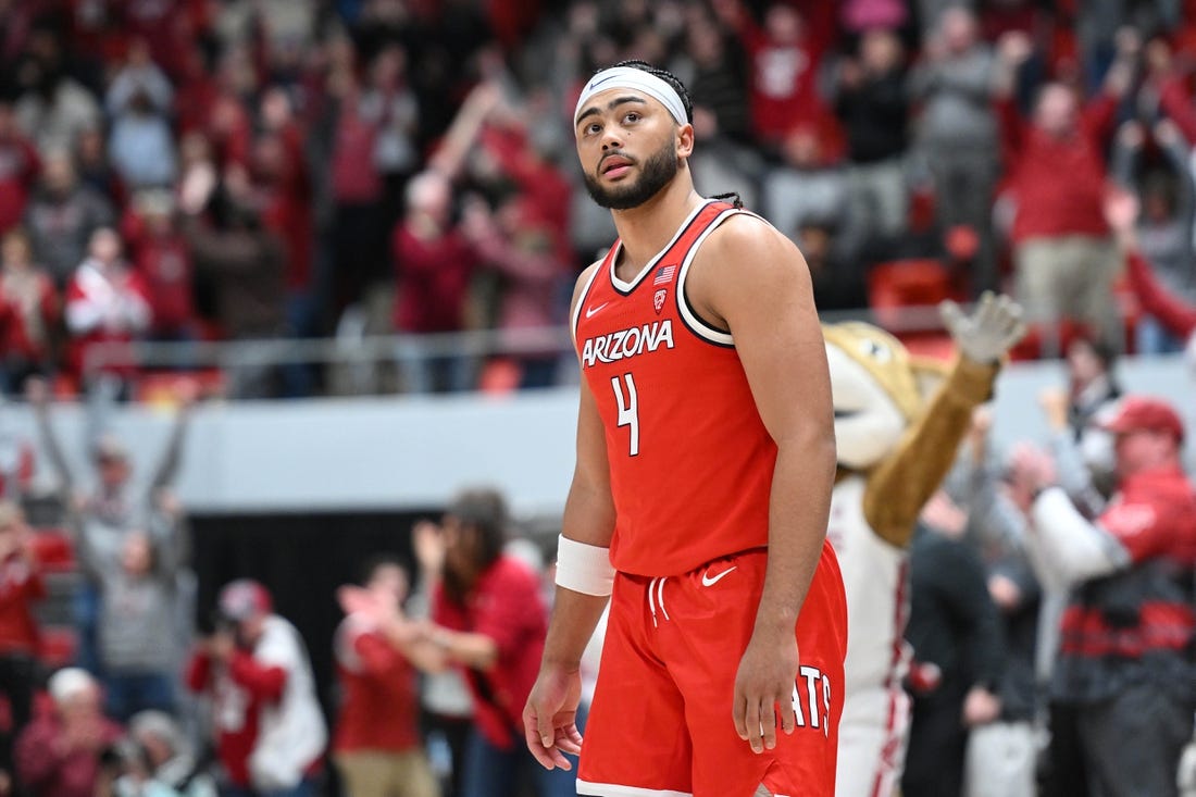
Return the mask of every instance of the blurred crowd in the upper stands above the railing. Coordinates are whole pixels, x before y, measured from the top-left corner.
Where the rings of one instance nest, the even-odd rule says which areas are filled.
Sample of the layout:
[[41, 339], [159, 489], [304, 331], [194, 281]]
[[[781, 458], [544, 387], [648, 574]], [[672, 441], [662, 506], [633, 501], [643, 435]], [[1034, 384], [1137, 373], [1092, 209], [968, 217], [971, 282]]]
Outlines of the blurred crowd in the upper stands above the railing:
[[[1152, 274], [1196, 298], [1190, 5], [8, 0], [4, 383], [128, 383], [129, 341], [177, 343], [152, 360], [177, 369], [187, 343], [397, 334], [397, 389], [553, 384], [563, 341], [519, 333], [562, 324], [614, 237], [569, 112], [628, 57], [689, 86], [700, 190], [798, 241], [822, 310], [1003, 287], [1041, 324], [1030, 357], [1080, 327], [1167, 351], [1100, 202], [1139, 195]], [[518, 342], [426, 345], [465, 330]], [[242, 359], [264, 365], [233, 395], [336, 389]]]

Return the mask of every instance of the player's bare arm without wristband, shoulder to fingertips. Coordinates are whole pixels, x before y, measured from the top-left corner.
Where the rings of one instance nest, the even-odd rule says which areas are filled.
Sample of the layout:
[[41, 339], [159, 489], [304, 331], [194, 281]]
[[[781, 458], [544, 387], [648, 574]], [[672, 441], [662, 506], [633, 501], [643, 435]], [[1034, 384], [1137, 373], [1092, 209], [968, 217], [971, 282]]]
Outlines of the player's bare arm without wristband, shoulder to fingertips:
[[794, 627], [822, 556], [835, 480], [835, 414], [810, 269], [798, 248], [761, 219], [727, 220], [688, 278], [702, 317], [731, 331], [756, 408], [776, 442], [769, 499], [768, 568], [732, 712], [757, 753], [795, 726]]

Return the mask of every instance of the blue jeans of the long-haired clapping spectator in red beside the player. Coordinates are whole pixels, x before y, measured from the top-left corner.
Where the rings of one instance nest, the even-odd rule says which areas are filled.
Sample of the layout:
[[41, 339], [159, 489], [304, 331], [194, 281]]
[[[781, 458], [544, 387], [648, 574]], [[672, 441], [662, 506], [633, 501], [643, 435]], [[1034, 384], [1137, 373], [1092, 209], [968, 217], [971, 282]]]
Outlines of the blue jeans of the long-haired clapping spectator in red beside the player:
[[465, 772], [462, 797], [513, 797], [521, 780], [532, 778], [536, 797], [576, 797], [578, 762], [573, 768], [545, 769], [524, 744], [523, 734], [515, 747], [501, 750], [475, 728], [465, 747]]

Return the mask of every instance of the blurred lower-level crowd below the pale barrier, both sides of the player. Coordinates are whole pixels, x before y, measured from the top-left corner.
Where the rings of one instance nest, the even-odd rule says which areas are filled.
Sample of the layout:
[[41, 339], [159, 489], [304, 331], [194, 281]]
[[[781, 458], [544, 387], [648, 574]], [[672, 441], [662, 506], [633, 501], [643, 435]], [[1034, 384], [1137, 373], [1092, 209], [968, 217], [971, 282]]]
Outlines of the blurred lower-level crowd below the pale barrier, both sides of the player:
[[[997, 445], [991, 407], [978, 408], [921, 515], [903, 793], [1196, 789], [1189, 430], [1145, 385], [1123, 385], [1099, 339], [1070, 339], [1062, 376], [1038, 396], [1042, 439]], [[438, 519], [396, 528], [354, 583], [323, 596], [341, 610], [331, 635], [313, 616], [282, 616], [255, 573], [206, 585], [205, 616], [172, 489], [195, 396], [179, 396], [153, 461], [102, 432], [84, 469], [59, 439], [48, 385], [32, 379], [29, 398], [65, 516], [60, 531], [30, 525], [23, 507], [45, 497], [30, 491], [28, 456], [6, 456], [0, 795], [574, 793], [574, 773], [539, 767], [520, 725], [555, 537], [514, 523], [499, 492], [463, 489]], [[38, 616], [61, 572], [47, 556], [55, 534], [79, 579], [72, 644], [51, 659]], [[582, 729], [602, 639], [582, 659]], [[331, 682], [317, 680], [315, 646], [332, 652]]]

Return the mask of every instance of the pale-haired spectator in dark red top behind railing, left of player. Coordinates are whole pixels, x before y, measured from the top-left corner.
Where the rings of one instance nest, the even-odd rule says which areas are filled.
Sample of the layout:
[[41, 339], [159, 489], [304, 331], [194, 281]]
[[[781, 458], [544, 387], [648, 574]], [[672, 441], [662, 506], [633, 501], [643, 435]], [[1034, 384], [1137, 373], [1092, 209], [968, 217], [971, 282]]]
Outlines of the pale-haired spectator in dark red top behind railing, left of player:
[[[395, 329], [401, 334], [454, 333], [465, 328], [465, 302], [477, 253], [452, 225], [452, 187], [426, 171], [407, 187], [407, 213], [391, 238], [397, 274]], [[415, 352], [404, 377], [414, 393], [464, 390], [469, 363]]]

